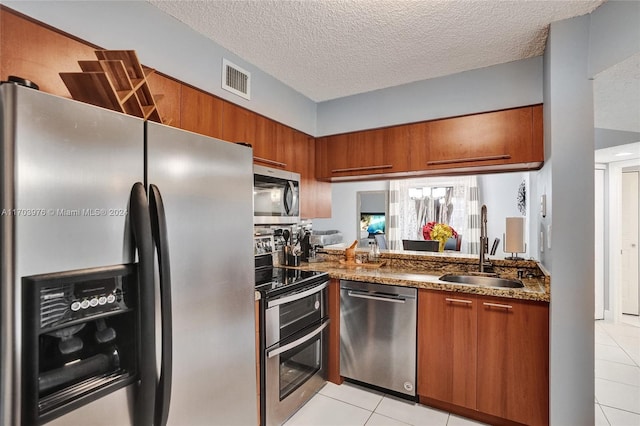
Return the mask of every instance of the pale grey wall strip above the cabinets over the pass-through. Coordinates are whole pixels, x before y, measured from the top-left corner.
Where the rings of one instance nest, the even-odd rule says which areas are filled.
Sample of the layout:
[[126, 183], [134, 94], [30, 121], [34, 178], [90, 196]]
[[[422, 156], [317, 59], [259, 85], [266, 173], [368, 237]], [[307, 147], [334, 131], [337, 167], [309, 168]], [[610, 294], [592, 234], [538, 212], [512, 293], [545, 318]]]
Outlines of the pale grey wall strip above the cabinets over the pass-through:
[[318, 104], [318, 135], [542, 103], [542, 57]]

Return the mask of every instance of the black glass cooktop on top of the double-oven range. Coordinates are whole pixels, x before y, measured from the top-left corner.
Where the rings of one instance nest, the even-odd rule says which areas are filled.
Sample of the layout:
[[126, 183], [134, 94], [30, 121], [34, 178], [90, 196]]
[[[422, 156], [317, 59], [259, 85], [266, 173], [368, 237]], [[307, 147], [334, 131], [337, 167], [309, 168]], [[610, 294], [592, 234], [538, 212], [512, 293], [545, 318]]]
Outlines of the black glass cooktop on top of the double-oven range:
[[329, 274], [326, 272], [277, 267], [256, 268], [256, 290], [268, 297], [293, 292], [301, 287], [327, 280], [329, 280]]

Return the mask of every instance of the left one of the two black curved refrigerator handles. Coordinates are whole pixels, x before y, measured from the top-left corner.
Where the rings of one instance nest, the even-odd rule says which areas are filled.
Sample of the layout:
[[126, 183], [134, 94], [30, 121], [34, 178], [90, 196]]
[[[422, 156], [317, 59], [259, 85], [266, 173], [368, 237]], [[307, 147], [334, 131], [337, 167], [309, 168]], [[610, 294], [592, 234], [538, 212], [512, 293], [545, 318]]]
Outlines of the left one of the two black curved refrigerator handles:
[[155, 296], [153, 237], [144, 186], [137, 182], [129, 198], [130, 229], [138, 251], [140, 312], [140, 382], [136, 389], [134, 423], [151, 425], [156, 392]]

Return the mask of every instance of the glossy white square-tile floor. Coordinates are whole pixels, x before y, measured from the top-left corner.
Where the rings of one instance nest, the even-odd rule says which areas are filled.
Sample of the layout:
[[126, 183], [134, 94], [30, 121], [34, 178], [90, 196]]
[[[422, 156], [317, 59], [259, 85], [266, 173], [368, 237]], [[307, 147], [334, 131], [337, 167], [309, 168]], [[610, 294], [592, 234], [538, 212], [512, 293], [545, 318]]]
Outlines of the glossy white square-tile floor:
[[[595, 424], [640, 426], [640, 328], [596, 321]], [[285, 426], [481, 425], [345, 383], [327, 383]]]

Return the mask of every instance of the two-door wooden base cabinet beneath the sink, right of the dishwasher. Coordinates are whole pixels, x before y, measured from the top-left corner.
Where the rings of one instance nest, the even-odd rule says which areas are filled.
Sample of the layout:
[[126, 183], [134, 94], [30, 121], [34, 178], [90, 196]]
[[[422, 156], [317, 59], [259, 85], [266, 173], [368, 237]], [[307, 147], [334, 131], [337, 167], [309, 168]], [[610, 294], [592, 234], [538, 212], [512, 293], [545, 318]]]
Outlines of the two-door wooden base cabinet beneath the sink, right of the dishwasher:
[[491, 424], [549, 424], [549, 306], [420, 290], [421, 402]]

